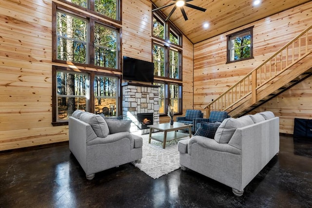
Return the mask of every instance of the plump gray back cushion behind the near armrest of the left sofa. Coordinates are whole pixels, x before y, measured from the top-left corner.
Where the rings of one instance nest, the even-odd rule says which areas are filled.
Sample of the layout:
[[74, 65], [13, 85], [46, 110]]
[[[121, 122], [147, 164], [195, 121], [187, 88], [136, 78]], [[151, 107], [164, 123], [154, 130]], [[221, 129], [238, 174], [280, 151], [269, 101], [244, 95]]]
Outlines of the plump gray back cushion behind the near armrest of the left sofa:
[[109, 134], [106, 121], [100, 115], [87, 112], [81, 113], [80, 120], [90, 124], [98, 137], [106, 137]]

